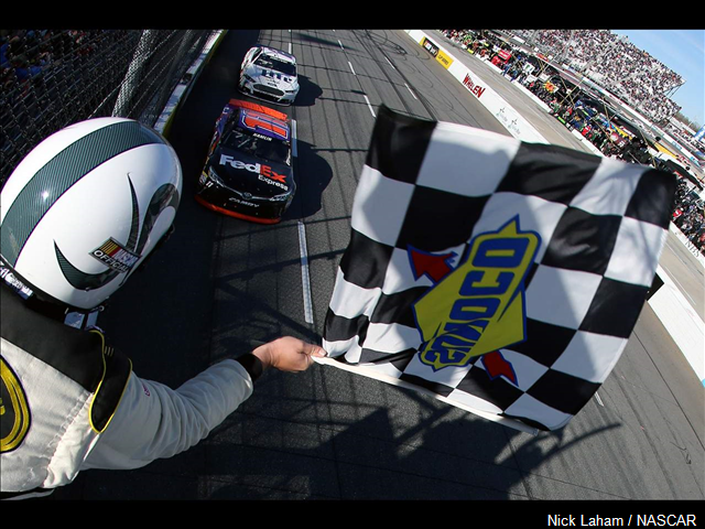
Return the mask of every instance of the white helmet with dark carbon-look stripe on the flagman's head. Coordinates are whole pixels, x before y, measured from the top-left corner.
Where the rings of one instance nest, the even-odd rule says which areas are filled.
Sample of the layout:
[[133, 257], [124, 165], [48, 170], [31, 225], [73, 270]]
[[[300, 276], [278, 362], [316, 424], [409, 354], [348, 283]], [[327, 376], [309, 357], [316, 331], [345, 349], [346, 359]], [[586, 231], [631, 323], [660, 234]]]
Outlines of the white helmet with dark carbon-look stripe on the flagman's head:
[[124, 118], [66, 127], [2, 188], [2, 260], [40, 296], [94, 309], [171, 229], [181, 193], [178, 158], [154, 130]]

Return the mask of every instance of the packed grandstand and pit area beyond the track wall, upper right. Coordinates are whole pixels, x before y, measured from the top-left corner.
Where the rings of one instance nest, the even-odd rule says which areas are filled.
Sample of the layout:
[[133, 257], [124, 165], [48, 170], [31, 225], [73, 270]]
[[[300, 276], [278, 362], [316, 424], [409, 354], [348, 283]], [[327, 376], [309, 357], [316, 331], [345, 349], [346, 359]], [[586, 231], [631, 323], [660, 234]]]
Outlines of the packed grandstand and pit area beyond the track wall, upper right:
[[685, 83], [679, 74], [607, 30], [442, 31], [492, 64], [510, 51], [513, 60], [496, 64], [502, 75], [603, 155], [675, 173], [675, 226], [705, 255], [705, 179], [694, 154], [702, 141], [671, 120], [680, 107], [669, 95]]

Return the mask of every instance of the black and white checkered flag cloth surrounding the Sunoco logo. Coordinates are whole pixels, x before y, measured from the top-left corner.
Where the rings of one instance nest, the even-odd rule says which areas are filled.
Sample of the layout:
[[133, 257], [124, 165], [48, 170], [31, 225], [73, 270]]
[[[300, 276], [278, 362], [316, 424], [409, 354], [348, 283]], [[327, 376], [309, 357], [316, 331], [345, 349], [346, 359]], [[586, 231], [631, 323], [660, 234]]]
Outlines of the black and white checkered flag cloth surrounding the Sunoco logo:
[[[462, 408], [533, 428], [565, 425], [619, 359], [651, 287], [672, 175], [570, 149], [380, 109], [325, 322], [340, 363], [403, 380]], [[519, 216], [540, 235], [525, 285], [527, 339], [500, 349], [517, 384], [481, 357], [431, 369], [413, 303], [409, 245], [462, 261], [478, 234]]]

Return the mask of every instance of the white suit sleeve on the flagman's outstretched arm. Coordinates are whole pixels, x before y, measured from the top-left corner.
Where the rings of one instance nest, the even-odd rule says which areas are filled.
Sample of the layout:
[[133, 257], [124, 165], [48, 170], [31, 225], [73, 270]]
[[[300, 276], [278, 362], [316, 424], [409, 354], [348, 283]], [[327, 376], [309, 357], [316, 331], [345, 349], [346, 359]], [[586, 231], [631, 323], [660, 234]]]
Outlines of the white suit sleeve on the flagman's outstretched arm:
[[199, 441], [252, 395], [252, 379], [224, 360], [177, 389], [131, 374], [110, 424], [82, 466], [139, 468], [171, 457]]

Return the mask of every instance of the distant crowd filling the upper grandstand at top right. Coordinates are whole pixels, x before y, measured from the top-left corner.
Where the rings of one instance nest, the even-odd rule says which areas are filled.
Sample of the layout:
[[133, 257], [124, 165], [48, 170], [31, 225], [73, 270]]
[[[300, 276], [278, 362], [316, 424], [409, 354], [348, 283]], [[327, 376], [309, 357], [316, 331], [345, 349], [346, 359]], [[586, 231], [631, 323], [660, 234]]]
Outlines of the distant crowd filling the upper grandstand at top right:
[[510, 30], [529, 45], [592, 78], [654, 122], [680, 110], [669, 95], [684, 79], [609, 30]]

